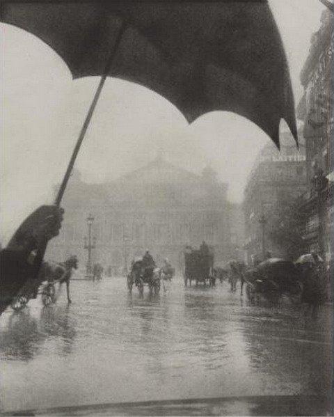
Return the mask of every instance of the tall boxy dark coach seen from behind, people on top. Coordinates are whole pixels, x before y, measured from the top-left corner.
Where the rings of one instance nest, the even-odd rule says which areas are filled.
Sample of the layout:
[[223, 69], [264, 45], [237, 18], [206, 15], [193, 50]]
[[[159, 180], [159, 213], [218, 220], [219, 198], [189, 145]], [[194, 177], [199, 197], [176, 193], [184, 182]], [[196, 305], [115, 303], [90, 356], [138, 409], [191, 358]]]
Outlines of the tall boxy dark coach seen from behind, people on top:
[[187, 249], [184, 253], [184, 285], [191, 286], [191, 281], [204, 285], [215, 285], [214, 254], [212, 251], [203, 253], [197, 249]]

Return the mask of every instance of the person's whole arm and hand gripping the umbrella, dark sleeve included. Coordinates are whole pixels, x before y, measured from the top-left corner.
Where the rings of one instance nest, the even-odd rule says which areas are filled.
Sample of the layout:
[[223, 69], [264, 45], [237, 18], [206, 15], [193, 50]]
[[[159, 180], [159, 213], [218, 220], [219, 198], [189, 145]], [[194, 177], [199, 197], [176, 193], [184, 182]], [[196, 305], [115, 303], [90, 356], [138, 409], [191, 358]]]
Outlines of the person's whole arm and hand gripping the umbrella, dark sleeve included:
[[45, 240], [58, 235], [63, 220], [63, 209], [55, 205], [39, 207], [19, 226], [6, 249], [0, 254], [0, 314], [19, 290], [35, 278], [33, 253]]

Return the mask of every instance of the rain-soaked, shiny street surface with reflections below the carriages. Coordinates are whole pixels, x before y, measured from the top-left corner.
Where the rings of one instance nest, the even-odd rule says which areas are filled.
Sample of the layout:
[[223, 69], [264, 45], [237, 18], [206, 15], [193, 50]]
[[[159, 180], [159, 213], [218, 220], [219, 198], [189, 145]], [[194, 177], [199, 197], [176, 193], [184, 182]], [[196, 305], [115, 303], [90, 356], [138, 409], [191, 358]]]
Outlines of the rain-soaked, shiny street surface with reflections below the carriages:
[[72, 299], [1, 317], [3, 410], [329, 393], [329, 306], [312, 321], [177, 278], [157, 297], [128, 294], [124, 278], [72, 281]]

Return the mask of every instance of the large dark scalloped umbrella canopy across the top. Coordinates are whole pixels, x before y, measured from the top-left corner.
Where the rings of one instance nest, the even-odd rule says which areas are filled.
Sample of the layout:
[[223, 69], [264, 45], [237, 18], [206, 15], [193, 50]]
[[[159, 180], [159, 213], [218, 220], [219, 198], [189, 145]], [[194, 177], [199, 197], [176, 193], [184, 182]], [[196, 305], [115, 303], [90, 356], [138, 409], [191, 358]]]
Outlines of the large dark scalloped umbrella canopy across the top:
[[13, 0], [1, 3], [0, 19], [44, 40], [74, 78], [107, 72], [143, 84], [189, 123], [233, 111], [276, 145], [283, 118], [296, 138], [285, 53], [265, 0]]

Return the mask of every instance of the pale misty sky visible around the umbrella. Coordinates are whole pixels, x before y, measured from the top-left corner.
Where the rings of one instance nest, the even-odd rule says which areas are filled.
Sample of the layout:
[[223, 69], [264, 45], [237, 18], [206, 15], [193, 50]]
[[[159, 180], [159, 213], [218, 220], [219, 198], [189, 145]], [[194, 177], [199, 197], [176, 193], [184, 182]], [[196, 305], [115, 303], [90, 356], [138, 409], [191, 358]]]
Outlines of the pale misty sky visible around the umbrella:
[[[298, 103], [299, 73], [319, 29], [319, 0], [269, 0], [283, 38]], [[29, 211], [51, 203], [97, 86], [97, 77], [72, 81], [61, 58], [41, 40], [1, 27], [2, 243]], [[285, 126], [283, 126], [285, 128]], [[165, 158], [199, 173], [209, 163], [241, 201], [247, 175], [269, 137], [227, 112], [188, 125], [182, 113], [152, 91], [108, 79], [82, 146], [77, 168], [101, 182], [138, 168], [162, 150]]]

